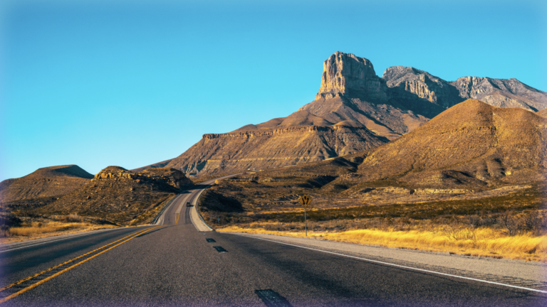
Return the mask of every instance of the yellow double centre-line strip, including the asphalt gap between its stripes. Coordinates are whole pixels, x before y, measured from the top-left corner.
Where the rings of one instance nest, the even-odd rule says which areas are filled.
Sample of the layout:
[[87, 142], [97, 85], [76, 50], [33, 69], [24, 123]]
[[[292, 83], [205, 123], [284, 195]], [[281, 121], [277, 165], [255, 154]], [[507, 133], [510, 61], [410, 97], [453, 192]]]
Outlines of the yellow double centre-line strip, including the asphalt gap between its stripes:
[[[130, 239], [133, 239], [139, 235], [142, 235], [143, 233], [154, 230], [155, 228], [160, 227], [152, 227], [145, 230], [137, 231], [136, 233], [133, 233], [132, 235], [128, 235], [127, 237], [123, 237], [121, 239], [118, 239], [112, 243], [106, 244], [103, 247], [99, 247], [98, 249], [93, 249], [91, 252], [87, 252], [85, 254], [82, 254], [78, 257], [75, 257], [73, 259], [70, 259], [66, 262], [63, 262], [61, 264], [58, 264], [56, 266], [52, 266], [49, 269], [46, 269], [44, 271], [41, 271], [40, 273], [34, 274], [32, 276], [28, 276], [25, 279], [21, 279], [20, 281], [16, 281], [13, 284], [9, 284], [8, 286], [4, 286], [0, 288], [0, 304], [5, 303], [6, 301], [9, 301], [11, 298], [14, 298], [16, 296], [19, 296], [22, 293], [25, 293], [28, 290], [31, 290], [33, 288], [36, 288], [36, 286], [39, 286], [46, 281], [55, 278], [56, 276], [59, 276], [63, 274], [64, 272], [71, 270], [75, 268], [76, 266], [79, 266], [80, 264], [83, 264], [84, 262], [88, 262], [88, 260], [93, 259], [97, 257], [100, 254], [103, 254], [104, 252], [109, 251], [110, 249], [113, 249], [114, 247], [118, 247], [121, 244], [124, 244], [125, 242], [129, 241]], [[120, 242], [122, 241], [122, 242]], [[120, 243], [118, 243], [120, 242]], [[115, 244], [118, 243], [118, 244]], [[113, 245], [115, 244], [115, 245]], [[109, 247], [110, 245], [113, 245], [112, 247]], [[108, 249], [105, 249], [106, 247], [109, 247]], [[104, 249], [104, 250], [102, 250]], [[72, 264], [76, 260], [79, 260], [79, 262], [76, 262], [75, 264]], [[72, 264], [72, 265], [71, 265]]]

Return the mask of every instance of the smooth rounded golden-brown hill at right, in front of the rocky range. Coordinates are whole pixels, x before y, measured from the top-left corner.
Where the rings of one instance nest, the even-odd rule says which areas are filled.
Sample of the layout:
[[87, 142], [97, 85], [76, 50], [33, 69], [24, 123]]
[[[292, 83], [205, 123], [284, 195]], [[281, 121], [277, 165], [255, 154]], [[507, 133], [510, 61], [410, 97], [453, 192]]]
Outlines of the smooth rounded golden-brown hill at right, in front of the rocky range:
[[467, 99], [365, 154], [358, 173], [364, 182], [476, 187], [542, 181], [546, 158], [546, 118]]

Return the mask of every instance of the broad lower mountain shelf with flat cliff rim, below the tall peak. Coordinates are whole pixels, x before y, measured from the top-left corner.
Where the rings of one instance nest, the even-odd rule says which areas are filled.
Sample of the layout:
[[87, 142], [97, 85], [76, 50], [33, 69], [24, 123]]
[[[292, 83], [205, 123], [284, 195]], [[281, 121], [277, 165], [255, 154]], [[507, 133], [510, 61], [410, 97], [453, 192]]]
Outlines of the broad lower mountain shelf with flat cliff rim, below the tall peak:
[[356, 123], [204, 134], [167, 167], [190, 175], [260, 170], [353, 154], [387, 141]]

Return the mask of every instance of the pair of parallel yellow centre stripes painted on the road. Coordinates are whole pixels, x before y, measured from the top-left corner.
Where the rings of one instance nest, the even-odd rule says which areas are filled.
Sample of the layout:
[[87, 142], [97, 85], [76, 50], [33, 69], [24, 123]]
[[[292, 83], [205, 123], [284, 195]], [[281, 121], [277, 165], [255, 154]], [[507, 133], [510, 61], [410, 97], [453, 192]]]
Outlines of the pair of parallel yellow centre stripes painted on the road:
[[[79, 266], [80, 264], [83, 264], [84, 262], [88, 262], [90, 259], [93, 259], [93, 258], [97, 257], [98, 255], [103, 254], [103, 252], [107, 252], [107, 251], [109, 251], [110, 249], [113, 249], [114, 247], [117, 247], [117, 246], [119, 246], [119, 245], [121, 245], [121, 244], [124, 244], [125, 242], [129, 241], [130, 239], [133, 239], [133, 238], [135, 238], [135, 237], [137, 237], [137, 236], [139, 236], [139, 235], [142, 235], [142, 234], [144, 234], [145, 232], [148, 232], [148, 231], [150, 231], [150, 230], [155, 230], [155, 229], [158, 228], [158, 227], [160, 227], [160, 226], [151, 227], [151, 228], [148, 228], [148, 229], [145, 229], [145, 230], [140, 230], [140, 231], [138, 231], [138, 232], [135, 232], [135, 233], [132, 234], [132, 235], [128, 235], [127, 237], [123, 237], [123, 238], [118, 239], [118, 240], [116, 240], [116, 241], [114, 241], [114, 242], [112, 242], [112, 243], [106, 244], [106, 245], [103, 246], [103, 247], [99, 247], [98, 249], [93, 249], [91, 252], [87, 252], [87, 253], [82, 254], [82, 255], [80, 255], [80, 256], [78, 256], [78, 257], [75, 257], [75, 258], [70, 259], [70, 260], [68, 260], [68, 261], [66, 261], [66, 262], [63, 262], [62, 264], [57, 264], [56, 266], [52, 266], [52, 267], [49, 268], [49, 269], [46, 269], [46, 270], [44, 270], [44, 271], [41, 271], [40, 273], [34, 274], [34, 275], [32, 275], [32, 276], [28, 276], [28, 277], [26, 277], [26, 278], [24, 278], [24, 279], [21, 279], [20, 281], [16, 281], [16, 282], [14, 282], [13, 284], [10, 284], [10, 285], [8, 285], [8, 286], [4, 286], [4, 287], [0, 288], [0, 293], [1, 293], [2, 291], [6, 291], [7, 289], [10, 289], [10, 288], [13, 287], [13, 286], [16, 286], [16, 285], [18, 285], [18, 284], [22, 284], [22, 283], [24, 283], [25, 281], [31, 280], [31, 279], [33, 279], [33, 278], [36, 278], [36, 277], [40, 276], [41, 274], [47, 273], [48, 271], [52, 271], [52, 270], [54, 270], [54, 269], [57, 269], [57, 268], [59, 268], [59, 267], [65, 265], [65, 264], [69, 264], [69, 263], [71, 263], [71, 262], [74, 262], [74, 261], [77, 260], [77, 259], [80, 259], [80, 258], [82, 258], [82, 257], [85, 257], [85, 256], [87, 256], [87, 255], [89, 255], [89, 254], [93, 254], [94, 252], [98, 252], [100, 249], [104, 249], [105, 247], [109, 247], [109, 246], [112, 245], [112, 244], [115, 244], [115, 243], [117, 243], [117, 242], [122, 241], [122, 242], [120, 242], [120, 243], [118, 243], [118, 244], [115, 244], [115, 245], [112, 246], [112, 247], [109, 247], [108, 249], [103, 250], [102, 252], [98, 252], [97, 254], [94, 254], [94, 255], [91, 256], [91, 257], [88, 257], [88, 258], [86, 258], [86, 259], [81, 260], [80, 262], [77, 262], [77, 263], [75, 263], [75, 264], [73, 264], [73, 265], [71, 265], [71, 266], [68, 266], [68, 268], [63, 269], [63, 270], [61, 270], [61, 271], [58, 271], [56, 274], [53, 274], [53, 275], [51, 275], [51, 276], [48, 276], [48, 277], [46, 277], [45, 279], [41, 279], [40, 281], [37, 281], [35, 284], [31, 284], [31, 286], [27, 286], [26, 288], [21, 289], [21, 290], [17, 291], [16, 293], [13, 293], [13, 294], [11, 294], [11, 295], [9, 295], [9, 296], [6, 296], [5, 298], [1, 298], [1, 299], [0, 299], [0, 304], [1, 304], [1, 303], [4, 303], [4, 302], [6, 302], [6, 301], [11, 300], [11, 298], [14, 298], [14, 297], [16, 297], [16, 296], [19, 296], [20, 294], [25, 293], [25, 292], [28, 291], [28, 290], [31, 290], [31, 289], [33, 289], [33, 288], [36, 288], [36, 286], [40, 286], [41, 284], [45, 283], [45, 282], [48, 281], [48, 280], [54, 279], [55, 277], [57, 277], [57, 276], [63, 274], [63, 273], [66, 272], [66, 271], [69, 271], [69, 270], [71, 270], [71, 269], [74, 269], [76, 266]], [[127, 239], [127, 238], [128, 238], [128, 239]]]

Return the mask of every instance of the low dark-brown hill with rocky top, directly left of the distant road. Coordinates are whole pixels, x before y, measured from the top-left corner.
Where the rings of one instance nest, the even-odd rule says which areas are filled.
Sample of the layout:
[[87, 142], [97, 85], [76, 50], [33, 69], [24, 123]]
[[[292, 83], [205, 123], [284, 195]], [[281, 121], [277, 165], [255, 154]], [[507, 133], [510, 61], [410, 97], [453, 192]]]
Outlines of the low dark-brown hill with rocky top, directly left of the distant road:
[[172, 168], [150, 168], [142, 173], [133, 173], [118, 166], [108, 166], [77, 190], [35, 213], [78, 213], [120, 225], [142, 223], [154, 217], [162, 203], [187, 185], [192, 185], [192, 181]]

